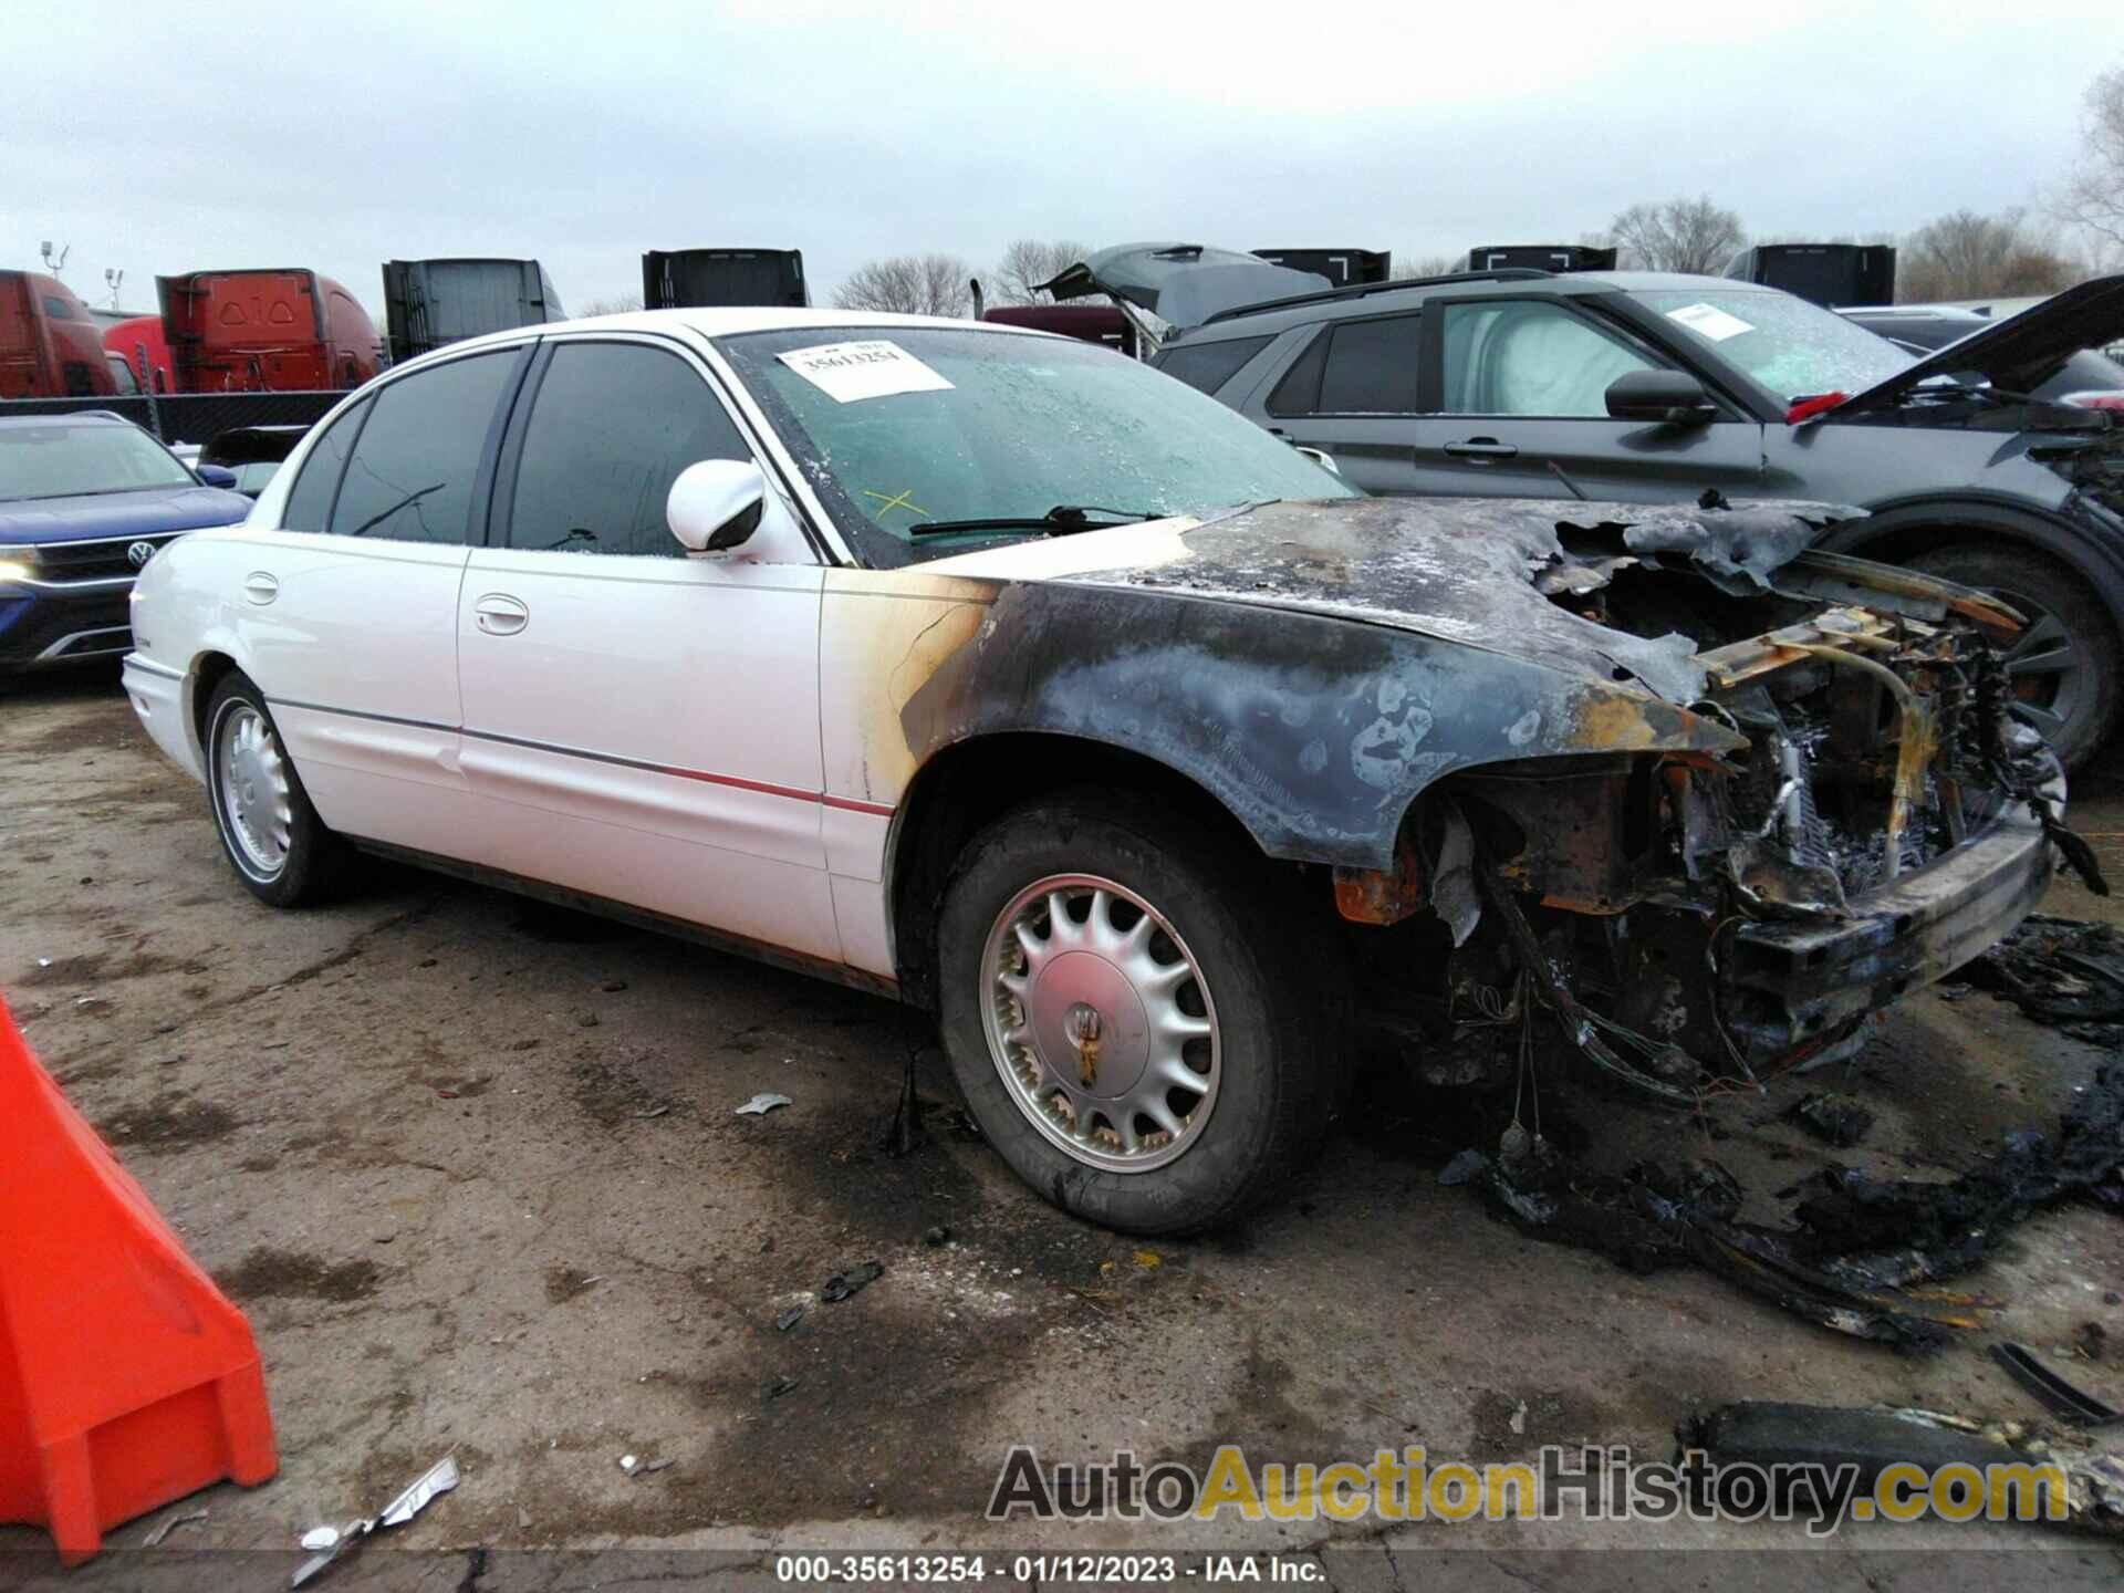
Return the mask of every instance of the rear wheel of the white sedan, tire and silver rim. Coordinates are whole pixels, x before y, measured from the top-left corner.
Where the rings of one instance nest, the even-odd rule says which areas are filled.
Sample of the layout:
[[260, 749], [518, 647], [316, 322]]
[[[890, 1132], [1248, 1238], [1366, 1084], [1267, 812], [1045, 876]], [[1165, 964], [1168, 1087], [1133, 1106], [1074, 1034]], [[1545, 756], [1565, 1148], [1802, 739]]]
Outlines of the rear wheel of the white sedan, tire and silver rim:
[[325, 828], [287, 756], [266, 695], [232, 673], [206, 701], [206, 796], [236, 877], [274, 907], [329, 894], [346, 843]]

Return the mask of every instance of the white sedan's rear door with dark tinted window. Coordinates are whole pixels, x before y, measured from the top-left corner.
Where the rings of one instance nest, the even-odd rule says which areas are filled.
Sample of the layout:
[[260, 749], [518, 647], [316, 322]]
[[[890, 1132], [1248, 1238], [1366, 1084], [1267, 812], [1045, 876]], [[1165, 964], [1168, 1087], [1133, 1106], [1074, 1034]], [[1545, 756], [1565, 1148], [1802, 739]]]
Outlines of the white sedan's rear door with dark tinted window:
[[314, 440], [229, 614], [323, 820], [457, 854], [457, 588], [531, 348], [406, 372]]

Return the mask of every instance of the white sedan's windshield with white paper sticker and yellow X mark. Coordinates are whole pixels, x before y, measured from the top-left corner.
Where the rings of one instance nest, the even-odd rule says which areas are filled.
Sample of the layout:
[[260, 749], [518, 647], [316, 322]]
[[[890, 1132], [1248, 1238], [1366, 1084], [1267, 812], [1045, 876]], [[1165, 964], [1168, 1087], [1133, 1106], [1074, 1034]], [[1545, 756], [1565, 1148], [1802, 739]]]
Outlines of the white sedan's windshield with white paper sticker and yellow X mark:
[[1185, 382], [1109, 348], [969, 327], [805, 327], [720, 338], [864, 563], [905, 565], [1041, 531], [1070, 506], [1200, 514], [1353, 489]]

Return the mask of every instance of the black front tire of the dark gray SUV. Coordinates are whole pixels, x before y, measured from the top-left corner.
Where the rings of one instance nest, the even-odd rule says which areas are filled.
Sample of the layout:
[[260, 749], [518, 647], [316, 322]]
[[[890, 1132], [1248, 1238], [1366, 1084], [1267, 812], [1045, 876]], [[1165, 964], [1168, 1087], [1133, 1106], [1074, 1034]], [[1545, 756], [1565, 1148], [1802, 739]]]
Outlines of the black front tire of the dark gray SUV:
[[[2031, 618], [2031, 637], [2045, 622], [2062, 629], [2073, 667], [2020, 675], [2026, 682], [2022, 707], [2069, 769], [2084, 765], [2118, 726], [2118, 669], [2124, 665], [2116, 620], [2094, 588], [2056, 559], [2011, 544], [1958, 542], [1931, 548], [1907, 563], [1926, 576], [1975, 586], [2011, 603]], [[2031, 654], [2043, 648], [2037, 641]], [[2007, 661], [2014, 669], [2014, 648], [2007, 648]]]

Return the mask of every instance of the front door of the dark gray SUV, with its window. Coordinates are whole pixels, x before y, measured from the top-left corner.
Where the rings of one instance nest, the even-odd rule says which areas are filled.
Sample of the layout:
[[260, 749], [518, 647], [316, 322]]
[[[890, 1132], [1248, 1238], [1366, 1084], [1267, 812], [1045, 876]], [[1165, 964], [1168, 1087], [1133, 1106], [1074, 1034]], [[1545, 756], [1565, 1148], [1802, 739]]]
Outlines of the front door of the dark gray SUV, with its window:
[[1612, 421], [1610, 382], [1674, 361], [1582, 306], [1463, 297], [1423, 314], [1425, 414], [1402, 431], [1402, 491], [1574, 497], [1568, 476], [1587, 497], [1657, 503], [1763, 478], [1763, 427], [1731, 406], [1710, 425]]

